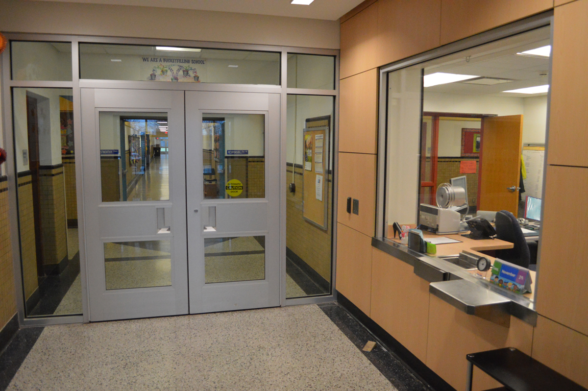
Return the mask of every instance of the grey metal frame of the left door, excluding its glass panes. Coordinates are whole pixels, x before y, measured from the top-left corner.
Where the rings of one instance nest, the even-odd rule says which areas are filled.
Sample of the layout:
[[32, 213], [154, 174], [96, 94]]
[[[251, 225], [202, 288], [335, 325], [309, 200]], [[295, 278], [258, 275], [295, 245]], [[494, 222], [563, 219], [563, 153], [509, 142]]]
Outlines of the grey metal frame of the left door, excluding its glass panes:
[[[188, 313], [184, 92], [82, 88], [81, 101], [89, 320], [95, 322]], [[169, 200], [102, 203], [99, 153], [101, 111], [168, 113], [168, 122], [179, 133], [176, 137], [172, 133], [169, 138], [172, 143], [171, 154], [168, 155]], [[171, 208], [170, 233], [157, 233], [157, 208]], [[149, 209], [152, 209], [152, 213]], [[148, 213], [137, 213], [138, 210]], [[120, 213], [119, 216], [123, 216], [124, 220], [119, 220], [109, 228], [101, 227], [108, 222], [105, 212]], [[125, 229], [135, 229], [131, 225], [131, 217], [140, 220], [136, 227], [139, 234], [121, 235]], [[149, 224], [152, 224], [153, 229]], [[108, 236], [108, 229], [111, 232], [114, 230], [113, 233], [118, 231], [119, 235]], [[172, 286], [106, 290], [103, 243], [129, 240], [171, 240]]]

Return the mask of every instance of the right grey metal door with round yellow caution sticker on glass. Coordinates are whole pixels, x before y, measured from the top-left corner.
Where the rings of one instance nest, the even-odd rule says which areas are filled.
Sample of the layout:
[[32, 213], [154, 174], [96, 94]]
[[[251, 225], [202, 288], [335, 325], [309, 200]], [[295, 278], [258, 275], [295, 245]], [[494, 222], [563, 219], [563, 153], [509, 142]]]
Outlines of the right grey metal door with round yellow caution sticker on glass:
[[191, 313], [280, 303], [279, 99], [186, 92]]

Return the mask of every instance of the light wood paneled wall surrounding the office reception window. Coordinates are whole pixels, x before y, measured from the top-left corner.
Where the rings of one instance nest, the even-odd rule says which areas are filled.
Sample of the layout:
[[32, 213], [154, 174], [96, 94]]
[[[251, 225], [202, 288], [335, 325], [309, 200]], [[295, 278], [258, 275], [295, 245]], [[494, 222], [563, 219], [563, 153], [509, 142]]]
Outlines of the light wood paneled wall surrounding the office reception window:
[[[375, 205], [375, 193], [365, 190], [372, 178], [375, 189], [375, 170], [372, 177], [371, 171], [366, 173], [357, 165], [361, 159], [358, 156], [373, 156], [371, 162], [377, 151], [372, 144], [376, 138], [373, 124], [377, 126], [377, 116], [373, 116], [377, 105], [376, 68], [554, 5], [549, 166], [543, 201], [537, 326], [516, 318], [511, 319], [509, 328], [497, 326], [459, 312], [434, 296], [429, 296], [427, 308], [427, 284], [415, 280], [409, 265], [380, 250], [372, 249], [372, 274], [368, 277], [366, 253], [359, 253], [359, 248], [365, 250], [373, 235], [375, 210], [366, 213], [369, 211], [362, 208], [366, 205], [362, 200], [360, 215], [349, 219], [344, 201], [355, 188], [361, 188], [365, 192], [362, 197], [373, 197]], [[588, 242], [583, 230], [578, 229], [588, 216], [588, 153], [584, 151], [588, 122], [583, 119], [588, 111], [588, 82], [581, 76], [588, 68], [588, 54], [578, 49], [588, 46], [586, 15], [588, 0], [368, 0], [342, 18], [339, 138], [343, 153], [339, 154], [337, 289], [344, 289], [341, 292], [360, 308], [368, 308], [366, 314], [419, 359], [423, 360], [424, 354], [423, 362], [457, 389], [465, 386], [466, 353], [504, 346], [532, 353], [540, 362], [588, 387], [588, 285], [580, 280]], [[355, 246], [358, 250], [354, 255]], [[407, 299], [409, 294], [403, 295], [403, 287], [412, 288], [410, 294], [422, 293], [422, 298]], [[419, 337], [423, 319], [427, 319], [427, 336]], [[476, 389], [495, 384], [475, 373]]]

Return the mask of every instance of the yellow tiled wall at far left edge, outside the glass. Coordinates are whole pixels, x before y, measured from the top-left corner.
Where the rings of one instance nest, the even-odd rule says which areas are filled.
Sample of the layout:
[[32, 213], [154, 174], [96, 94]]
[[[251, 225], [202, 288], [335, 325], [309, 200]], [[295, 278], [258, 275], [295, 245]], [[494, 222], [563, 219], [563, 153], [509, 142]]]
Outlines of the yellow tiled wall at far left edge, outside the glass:
[[0, 182], [0, 330], [16, 313], [7, 190], [8, 182]]

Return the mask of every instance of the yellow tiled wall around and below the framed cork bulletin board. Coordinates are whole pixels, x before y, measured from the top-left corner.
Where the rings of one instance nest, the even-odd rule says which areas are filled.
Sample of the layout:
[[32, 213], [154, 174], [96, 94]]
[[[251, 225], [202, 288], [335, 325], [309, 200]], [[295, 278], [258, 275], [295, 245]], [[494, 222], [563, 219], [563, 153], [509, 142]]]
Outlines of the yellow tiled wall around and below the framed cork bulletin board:
[[[286, 246], [330, 281], [332, 213], [328, 213], [326, 230], [309, 223], [302, 217], [302, 168], [294, 168], [296, 192], [286, 196]], [[328, 210], [333, 209], [332, 175], [328, 176]], [[292, 166], [286, 168], [286, 183], [292, 182]], [[314, 189], [312, 189], [314, 191]]]

